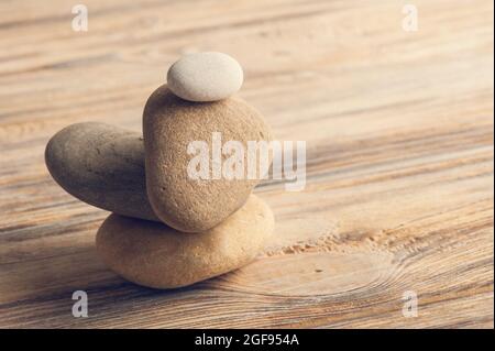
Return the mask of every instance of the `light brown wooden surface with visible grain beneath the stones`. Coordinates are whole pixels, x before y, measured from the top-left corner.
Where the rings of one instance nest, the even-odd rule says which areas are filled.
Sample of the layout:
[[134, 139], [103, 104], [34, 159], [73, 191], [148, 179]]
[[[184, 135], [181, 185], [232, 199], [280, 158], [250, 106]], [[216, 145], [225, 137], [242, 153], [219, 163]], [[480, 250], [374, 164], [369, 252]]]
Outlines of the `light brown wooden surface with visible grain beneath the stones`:
[[[0, 326], [493, 328], [493, 2], [0, 2]], [[152, 290], [108, 271], [108, 212], [43, 161], [80, 121], [141, 129], [182, 53], [221, 51], [279, 140], [307, 141], [307, 186], [256, 189], [276, 239], [253, 264]], [[89, 296], [74, 318], [72, 294]], [[403, 294], [418, 295], [405, 318]]]

